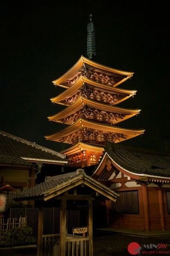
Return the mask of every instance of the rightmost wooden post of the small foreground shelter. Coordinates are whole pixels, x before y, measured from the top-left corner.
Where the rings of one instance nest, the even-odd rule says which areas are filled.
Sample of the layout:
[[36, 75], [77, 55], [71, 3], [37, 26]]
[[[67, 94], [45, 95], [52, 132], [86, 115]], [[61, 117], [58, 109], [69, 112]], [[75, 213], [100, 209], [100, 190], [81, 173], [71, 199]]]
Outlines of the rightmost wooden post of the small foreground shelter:
[[92, 200], [88, 200], [88, 238], [89, 238], [89, 256], [93, 256], [93, 209]]

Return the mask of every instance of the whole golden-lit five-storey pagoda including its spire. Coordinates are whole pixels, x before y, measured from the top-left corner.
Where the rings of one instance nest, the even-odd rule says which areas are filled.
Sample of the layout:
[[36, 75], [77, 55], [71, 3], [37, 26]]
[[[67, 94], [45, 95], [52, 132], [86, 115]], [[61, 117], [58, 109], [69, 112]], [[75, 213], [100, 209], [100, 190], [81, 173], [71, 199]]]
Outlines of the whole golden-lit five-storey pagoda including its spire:
[[144, 133], [143, 129], [120, 128], [119, 123], [139, 114], [140, 109], [120, 108], [120, 102], [134, 96], [136, 90], [117, 86], [133, 76], [132, 72], [116, 70], [94, 62], [96, 55], [94, 24], [88, 23], [87, 55], [53, 81], [65, 90], [51, 99], [65, 109], [49, 116], [50, 121], [68, 125], [62, 131], [45, 136], [46, 140], [68, 143], [61, 153], [70, 159], [71, 166], [97, 164], [105, 150], [106, 141], [119, 143]]

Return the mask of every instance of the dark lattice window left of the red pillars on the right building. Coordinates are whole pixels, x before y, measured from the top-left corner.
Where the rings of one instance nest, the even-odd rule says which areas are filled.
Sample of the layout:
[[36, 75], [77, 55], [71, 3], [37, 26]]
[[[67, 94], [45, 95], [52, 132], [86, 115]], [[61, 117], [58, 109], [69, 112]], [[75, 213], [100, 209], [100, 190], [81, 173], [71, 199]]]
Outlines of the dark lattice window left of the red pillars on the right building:
[[139, 214], [138, 190], [119, 191], [120, 196], [112, 202], [113, 213]]

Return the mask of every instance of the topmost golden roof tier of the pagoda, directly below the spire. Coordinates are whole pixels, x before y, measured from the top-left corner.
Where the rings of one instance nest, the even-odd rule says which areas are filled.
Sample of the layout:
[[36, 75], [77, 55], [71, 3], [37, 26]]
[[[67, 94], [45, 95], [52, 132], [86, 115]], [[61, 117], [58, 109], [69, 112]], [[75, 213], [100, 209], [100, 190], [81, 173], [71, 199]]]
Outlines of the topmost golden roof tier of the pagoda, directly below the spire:
[[133, 72], [126, 72], [104, 66], [81, 56], [73, 67], [60, 76], [59, 79], [54, 80], [53, 83], [68, 88], [72, 84], [75, 84], [79, 76], [83, 75], [90, 78], [90, 80], [100, 80], [103, 84], [116, 87], [133, 76], [133, 74]]

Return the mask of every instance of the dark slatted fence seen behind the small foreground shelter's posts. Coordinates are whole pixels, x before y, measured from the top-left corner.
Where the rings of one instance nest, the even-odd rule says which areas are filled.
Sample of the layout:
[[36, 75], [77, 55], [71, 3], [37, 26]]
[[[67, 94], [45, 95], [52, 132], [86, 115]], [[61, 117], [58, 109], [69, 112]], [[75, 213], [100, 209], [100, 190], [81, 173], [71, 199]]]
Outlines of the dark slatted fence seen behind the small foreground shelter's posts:
[[[33, 236], [38, 234], [38, 212], [39, 208], [11, 208], [10, 218], [19, 219], [20, 216], [27, 217], [27, 225], [32, 227]], [[59, 234], [60, 208], [44, 208], [43, 235]], [[68, 232], [73, 227], [79, 227], [79, 210], [68, 210]]]

